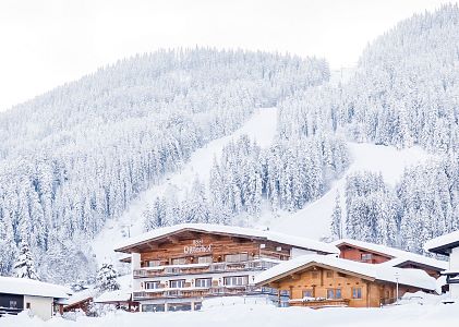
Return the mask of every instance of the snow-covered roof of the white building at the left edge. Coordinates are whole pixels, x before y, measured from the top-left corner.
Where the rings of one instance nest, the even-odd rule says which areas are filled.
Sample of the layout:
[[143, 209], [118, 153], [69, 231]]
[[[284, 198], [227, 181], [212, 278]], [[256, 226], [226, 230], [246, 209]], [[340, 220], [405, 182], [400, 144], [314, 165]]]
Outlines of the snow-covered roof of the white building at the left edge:
[[72, 290], [34, 279], [0, 277], [0, 293], [68, 299]]

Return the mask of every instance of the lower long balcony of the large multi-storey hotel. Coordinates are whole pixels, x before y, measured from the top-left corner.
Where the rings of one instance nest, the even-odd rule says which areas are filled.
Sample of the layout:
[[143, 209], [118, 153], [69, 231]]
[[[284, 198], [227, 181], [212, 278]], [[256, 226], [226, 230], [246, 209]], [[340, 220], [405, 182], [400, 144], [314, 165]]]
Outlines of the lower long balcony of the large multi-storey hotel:
[[180, 288], [180, 289], [154, 289], [133, 293], [133, 300], [155, 300], [155, 299], [182, 299], [182, 298], [208, 298], [227, 295], [252, 295], [271, 294], [277, 295], [277, 291], [271, 288], [255, 288], [253, 286], [225, 286], [208, 288]]

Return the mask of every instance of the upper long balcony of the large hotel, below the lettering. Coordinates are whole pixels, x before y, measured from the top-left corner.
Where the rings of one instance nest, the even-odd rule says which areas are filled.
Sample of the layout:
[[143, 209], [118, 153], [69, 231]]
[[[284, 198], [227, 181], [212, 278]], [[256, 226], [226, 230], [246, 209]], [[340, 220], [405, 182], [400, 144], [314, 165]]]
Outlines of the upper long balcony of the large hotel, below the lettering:
[[213, 263], [213, 264], [190, 264], [169, 265], [134, 269], [134, 278], [154, 278], [161, 276], [197, 275], [209, 272], [231, 272], [231, 271], [254, 271], [266, 270], [277, 263], [271, 261], [256, 259], [240, 263]]

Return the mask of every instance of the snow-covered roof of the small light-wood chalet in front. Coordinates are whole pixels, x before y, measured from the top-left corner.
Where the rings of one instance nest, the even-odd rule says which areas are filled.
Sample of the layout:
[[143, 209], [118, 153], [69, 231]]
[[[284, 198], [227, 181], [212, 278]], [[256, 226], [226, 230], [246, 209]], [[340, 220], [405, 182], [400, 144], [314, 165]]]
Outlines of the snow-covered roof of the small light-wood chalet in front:
[[334, 255], [302, 255], [283, 262], [258, 274], [255, 277], [255, 284], [266, 284], [312, 265], [333, 267], [375, 280], [397, 282], [398, 279], [400, 284], [416, 287], [423, 290], [434, 291], [437, 287], [436, 279], [430, 277], [427, 272], [421, 269], [402, 269], [383, 265], [370, 265], [338, 258]]

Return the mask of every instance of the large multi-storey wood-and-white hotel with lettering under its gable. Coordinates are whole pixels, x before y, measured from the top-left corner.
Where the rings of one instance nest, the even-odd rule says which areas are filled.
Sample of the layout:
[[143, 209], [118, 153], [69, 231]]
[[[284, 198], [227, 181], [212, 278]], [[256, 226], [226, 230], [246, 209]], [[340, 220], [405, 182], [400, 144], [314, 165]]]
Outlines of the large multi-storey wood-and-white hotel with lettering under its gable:
[[207, 296], [266, 295], [255, 276], [303, 254], [335, 254], [336, 246], [269, 231], [185, 223], [132, 238], [117, 252], [129, 253], [132, 301], [141, 311], [198, 310]]

